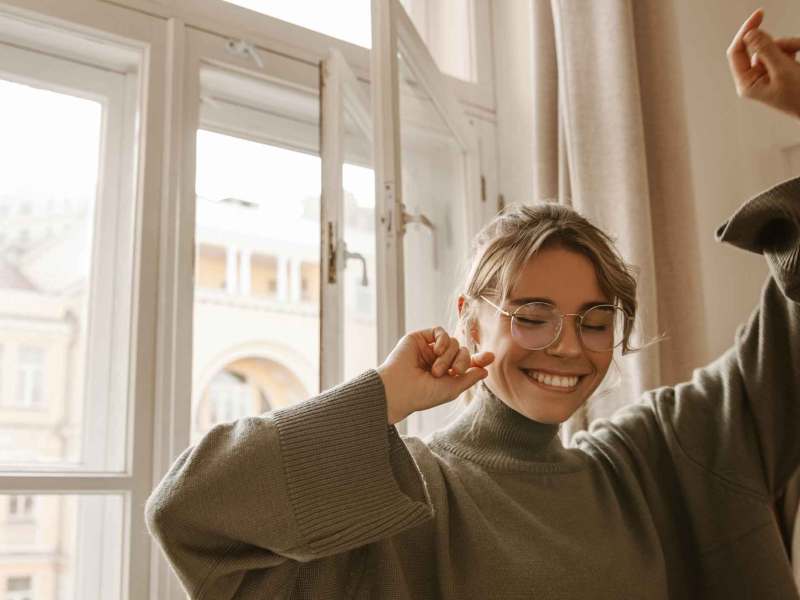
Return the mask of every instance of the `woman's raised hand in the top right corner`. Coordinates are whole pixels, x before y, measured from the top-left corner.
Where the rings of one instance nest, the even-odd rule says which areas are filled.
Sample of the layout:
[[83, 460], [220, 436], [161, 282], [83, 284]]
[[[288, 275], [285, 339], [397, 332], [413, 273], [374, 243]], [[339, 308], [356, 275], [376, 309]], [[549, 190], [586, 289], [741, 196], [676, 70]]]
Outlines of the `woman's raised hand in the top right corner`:
[[728, 65], [736, 93], [800, 117], [800, 38], [772, 37], [759, 29], [758, 9], [742, 24], [728, 47]]

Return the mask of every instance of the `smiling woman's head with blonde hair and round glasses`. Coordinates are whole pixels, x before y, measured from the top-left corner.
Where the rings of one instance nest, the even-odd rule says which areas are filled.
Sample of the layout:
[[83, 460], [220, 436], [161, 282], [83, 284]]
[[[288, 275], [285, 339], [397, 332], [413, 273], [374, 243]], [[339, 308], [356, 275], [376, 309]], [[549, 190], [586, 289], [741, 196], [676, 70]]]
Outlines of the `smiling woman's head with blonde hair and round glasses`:
[[[510, 207], [478, 233], [470, 265], [457, 300], [458, 336], [473, 353], [492, 349], [487, 386], [529, 418], [565, 421], [604, 381], [615, 348], [625, 355], [662, 339], [631, 346], [634, 267], [608, 235], [567, 206]], [[537, 322], [543, 325], [534, 329]], [[555, 387], [547, 374], [578, 381]], [[552, 392], [565, 391], [568, 398], [554, 401]]]

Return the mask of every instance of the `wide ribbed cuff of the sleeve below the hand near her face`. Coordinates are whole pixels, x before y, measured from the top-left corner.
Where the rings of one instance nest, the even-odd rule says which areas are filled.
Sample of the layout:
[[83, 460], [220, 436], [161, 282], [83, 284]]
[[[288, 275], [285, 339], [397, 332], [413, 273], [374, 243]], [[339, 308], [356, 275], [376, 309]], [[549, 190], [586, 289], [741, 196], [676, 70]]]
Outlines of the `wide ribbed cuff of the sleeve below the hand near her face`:
[[377, 371], [275, 411], [273, 418], [299, 541], [312, 554], [357, 548], [432, 517], [431, 506], [412, 500], [394, 477], [390, 439], [393, 455], [400, 450], [404, 460], [413, 459], [388, 425]]

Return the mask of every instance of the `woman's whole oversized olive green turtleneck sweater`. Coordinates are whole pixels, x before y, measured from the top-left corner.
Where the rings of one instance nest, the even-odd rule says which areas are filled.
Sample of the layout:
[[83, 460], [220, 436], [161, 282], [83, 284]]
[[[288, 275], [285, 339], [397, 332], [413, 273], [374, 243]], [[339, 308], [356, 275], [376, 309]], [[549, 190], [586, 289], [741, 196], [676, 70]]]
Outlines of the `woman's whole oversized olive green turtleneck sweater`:
[[483, 384], [430, 439], [375, 371], [218, 425], [148, 501], [192, 598], [797, 598], [773, 503], [800, 466], [800, 179], [717, 238], [771, 275], [735, 344], [562, 447]]

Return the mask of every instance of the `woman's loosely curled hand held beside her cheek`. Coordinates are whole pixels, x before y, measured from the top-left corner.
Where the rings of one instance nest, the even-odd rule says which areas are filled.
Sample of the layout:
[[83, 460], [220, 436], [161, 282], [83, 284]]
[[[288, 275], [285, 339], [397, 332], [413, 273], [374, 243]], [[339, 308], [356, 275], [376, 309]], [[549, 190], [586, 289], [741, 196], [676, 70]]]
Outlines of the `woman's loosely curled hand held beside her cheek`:
[[404, 335], [377, 369], [389, 423], [454, 400], [489, 374], [486, 367], [493, 360], [491, 352], [470, 355], [442, 327]]

